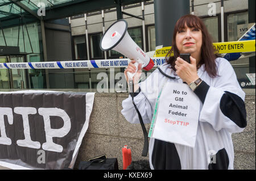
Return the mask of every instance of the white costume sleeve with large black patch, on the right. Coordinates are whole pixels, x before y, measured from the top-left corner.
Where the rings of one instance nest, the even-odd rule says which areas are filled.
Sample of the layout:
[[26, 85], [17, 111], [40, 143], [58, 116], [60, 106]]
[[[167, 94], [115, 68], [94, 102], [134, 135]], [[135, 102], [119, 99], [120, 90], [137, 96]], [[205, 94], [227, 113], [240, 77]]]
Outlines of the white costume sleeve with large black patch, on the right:
[[[245, 92], [242, 91], [232, 65], [224, 58], [217, 63], [218, 75], [195, 92], [203, 102], [199, 121], [208, 122], [216, 131], [242, 132], [246, 127]], [[202, 96], [203, 95], [203, 96]]]

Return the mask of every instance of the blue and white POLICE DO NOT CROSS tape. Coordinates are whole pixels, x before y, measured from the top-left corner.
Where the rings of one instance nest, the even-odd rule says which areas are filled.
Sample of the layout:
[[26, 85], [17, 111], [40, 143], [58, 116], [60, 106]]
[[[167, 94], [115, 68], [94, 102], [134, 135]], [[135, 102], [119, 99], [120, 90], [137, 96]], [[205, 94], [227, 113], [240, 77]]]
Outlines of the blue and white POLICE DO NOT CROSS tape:
[[[151, 58], [155, 67], [166, 62], [165, 57]], [[52, 62], [12, 62], [0, 63], [0, 69], [84, 69], [84, 68], [125, 68], [131, 60], [120, 58], [112, 60], [74, 60]], [[0, 59], [1, 62], [1, 59]]]

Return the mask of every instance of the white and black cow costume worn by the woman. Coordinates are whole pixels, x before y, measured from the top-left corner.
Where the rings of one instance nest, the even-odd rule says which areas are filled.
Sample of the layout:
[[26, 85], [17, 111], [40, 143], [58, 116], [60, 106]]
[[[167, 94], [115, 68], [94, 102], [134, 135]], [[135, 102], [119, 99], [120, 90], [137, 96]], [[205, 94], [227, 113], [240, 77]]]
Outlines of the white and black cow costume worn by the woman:
[[[151, 169], [233, 169], [232, 133], [242, 132], [247, 124], [245, 92], [242, 91], [236, 74], [227, 60], [216, 58], [216, 65], [215, 78], [209, 77], [204, 71], [204, 65], [197, 72], [203, 82], [195, 90], [195, 94], [201, 100], [195, 148], [151, 138]], [[170, 64], [163, 64], [160, 69], [172, 77], [179, 78], [175, 71], [170, 69]], [[154, 81], [154, 76], [158, 76], [160, 87], [164, 75], [156, 69], [145, 81], [139, 83], [139, 92], [134, 97], [144, 123], [151, 123], [158, 96], [152, 98], [152, 94], [149, 93], [154, 89], [154, 83], [148, 81]], [[172, 80], [183, 83], [182, 79]], [[121, 112], [126, 120], [130, 123], [139, 123], [131, 96], [123, 100], [122, 106]], [[216, 163], [209, 162], [210, 150], [216, 153]]]

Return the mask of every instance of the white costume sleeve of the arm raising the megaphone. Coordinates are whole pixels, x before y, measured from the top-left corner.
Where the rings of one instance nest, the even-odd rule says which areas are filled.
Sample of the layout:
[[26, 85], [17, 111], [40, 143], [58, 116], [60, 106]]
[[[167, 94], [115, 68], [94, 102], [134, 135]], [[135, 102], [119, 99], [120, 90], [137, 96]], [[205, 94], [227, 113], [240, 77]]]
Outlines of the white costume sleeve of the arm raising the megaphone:
[[[158, 95], [158, 70], [155, 70], [148, 78], [139, 83], [140, 91], [134, 96], [134, 103], [136, 104], [139, 112], [141, 113], [143, 123], [151, 123], [152, 115], [154, 112], [154, 105], [156, 96]], [[130, 123], [139, 123], [138, 113], [134, 108], [131, 95], [122, 102], [123, 110], [122, 115]]]

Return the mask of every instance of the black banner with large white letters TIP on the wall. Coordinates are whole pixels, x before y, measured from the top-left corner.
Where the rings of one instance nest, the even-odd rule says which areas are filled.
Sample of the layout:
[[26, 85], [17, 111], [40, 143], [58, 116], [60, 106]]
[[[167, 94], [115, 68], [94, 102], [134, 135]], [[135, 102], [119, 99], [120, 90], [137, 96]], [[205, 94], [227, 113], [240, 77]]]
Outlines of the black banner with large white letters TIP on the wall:
[[11, 169], [73, 167], [93, 100], [94, 93], [0, 94], [0, 165]]

